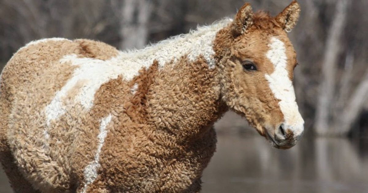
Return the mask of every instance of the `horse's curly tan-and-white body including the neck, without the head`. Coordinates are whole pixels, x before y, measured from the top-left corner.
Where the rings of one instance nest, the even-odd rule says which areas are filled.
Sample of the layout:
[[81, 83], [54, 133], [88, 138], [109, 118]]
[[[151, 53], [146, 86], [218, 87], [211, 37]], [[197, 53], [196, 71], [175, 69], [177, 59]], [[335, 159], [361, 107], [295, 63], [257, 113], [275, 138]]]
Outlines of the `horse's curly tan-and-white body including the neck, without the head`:
[[[45, 39], [20, 49], [1, 76], [1, 93], [14, 93], [1, 95], [1, 103], [11, 106], [5, 112], [2, 108], [2, 120], [12, 125], [1, 136], [8, 132], [19, 165], [32, 164], [22, 172], [45, 192], [73, 190], [75, 182], [79, 190], [83, 184], [92, 188], [99, 176], [109, 176], [108, 182], [122, 192], [124, 187], [132, 192], [197, 189], [199, 174], [215, 151], [211, 124], [225, 109], [206, 112], [219, 100], [209, 90], [218, 82], [216, 69], [207, 62], [215, 60], [213, 53], [194, 50], [196, 58], [185, 55], [185, 49], [212, 50], [213, 29], [131, 53], [67, 39]], [[209, 44], [188, 44], [200, 38]], [[202, 136], [184, 143], [194, 135], [186, 127], [200, 123], [208, 128], [191, 132]]]

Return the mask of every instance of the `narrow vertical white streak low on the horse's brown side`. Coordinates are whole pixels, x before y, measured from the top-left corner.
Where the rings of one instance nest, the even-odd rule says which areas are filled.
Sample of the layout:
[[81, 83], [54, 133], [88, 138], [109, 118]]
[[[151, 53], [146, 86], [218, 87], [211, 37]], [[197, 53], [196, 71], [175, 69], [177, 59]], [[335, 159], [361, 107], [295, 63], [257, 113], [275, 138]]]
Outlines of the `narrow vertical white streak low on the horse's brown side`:
[[97, 178], [98, 175], [97, 171], [98, 168], [100, 167], [99, 163], [100, 153], [108, 132], [106, 127], [110, 123], [110, 121], [111, 121], [111, 114], [103, 118], [100, 122], [100, 133], [97, 136], [98, 146], [95, 154], [95, 159], [84, 168], [84, 187], [82, 193], [86, 192], [88, 185], [93, 183]]

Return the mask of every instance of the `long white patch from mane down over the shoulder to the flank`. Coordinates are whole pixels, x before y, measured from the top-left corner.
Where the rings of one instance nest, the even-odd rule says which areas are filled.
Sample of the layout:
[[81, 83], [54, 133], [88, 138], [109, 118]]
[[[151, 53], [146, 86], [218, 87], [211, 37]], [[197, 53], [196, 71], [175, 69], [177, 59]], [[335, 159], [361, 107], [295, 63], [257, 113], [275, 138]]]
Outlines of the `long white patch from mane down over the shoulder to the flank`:
[[120, 51], [118, 56], [110, 60], [99, 60], [95, 58], [78, 58], [75, 54], [63, 57], [60, 62], [71, 62], [78, 68], [72, 74], [72, 78], [59, 90], [53, 100], [45, 108], [46, 122], [59, 118], [67, 111], [63, 98], [68, 91], [79, 81], [85, 83], [75, 97], [75, 103], [81, 104], [86, 110], [93, 106], [95, 92], [99, 87], [111, 79], [116, 79], [121, 75], [124, 80], [130, 81], [139, 74], [142, 68], [149, 68], [154, 60], [159, 62], [159, 66], [171, 61], [176, 62], [187, 54], [190, 61], [197, 60], [202, 55], [210, 68], [215, 67], [213, 50], [213, 40], [216, 33], [227, 26], [231, 19], [223, 19], [210, 26], [198, 27], [196, 31], [191, 31], [185, 35], [178, 35], [170, 39], [163, 40], [141, 50]]

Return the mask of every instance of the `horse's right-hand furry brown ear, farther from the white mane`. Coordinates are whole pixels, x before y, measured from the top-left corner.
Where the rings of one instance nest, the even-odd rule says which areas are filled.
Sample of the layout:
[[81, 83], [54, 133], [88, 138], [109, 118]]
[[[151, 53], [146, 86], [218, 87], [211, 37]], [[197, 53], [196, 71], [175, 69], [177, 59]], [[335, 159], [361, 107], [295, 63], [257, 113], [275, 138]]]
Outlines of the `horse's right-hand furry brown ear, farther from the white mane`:
[[293, 1], [287, 6], [279, 15], [276, 16], [276, 21], [280, 23], [282, 28], [286, 32], [290, 32], [291, 29], [297, 24], [300, 13], [300, 6], [297, 1]]

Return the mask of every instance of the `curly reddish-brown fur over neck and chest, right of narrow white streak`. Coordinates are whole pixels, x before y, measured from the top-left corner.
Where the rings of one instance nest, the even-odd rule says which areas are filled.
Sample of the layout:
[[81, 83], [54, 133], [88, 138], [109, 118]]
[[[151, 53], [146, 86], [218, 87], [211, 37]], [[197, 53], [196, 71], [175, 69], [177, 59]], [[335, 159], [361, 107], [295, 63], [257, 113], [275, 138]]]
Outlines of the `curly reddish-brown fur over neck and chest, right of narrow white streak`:
[[[185, 60], [183, 58], [183, 61]], [[179, 61], [178, 64], [183, 64], [183, 61]], [[151, 68], [142, 69], [141, 74], [128, 84], [139, 83], [134, 96], [130, 94], [130, 87], [124, 86], [121, 78], [106, 83], [96, 93], [97, 101], [91, 114], [103, 117], [107, 114], [104, 110], [109, 109], [117, 117], [105, 139], [99, 177], [88, 190], [198, 191], [200, 187], [198, 175], [206, 167], [215, 150], [216, 138], [211, 125], [226, 108], [219, 106], [219, 110], [213, 112], [213, 103], [219, 101], [216, 97], [218, 93], [202, 94], [210, 91], [203, 85], [209, 88], [216, 83], [212, 82], [211, 77], [204, 77], [209, 74], [208, 66], [203, 59], [200, 58], [185, 68], [175, 65], [171, 70], [168, 65], [160, 72], [157, 71], [157, 66], [158, 63], [154, 62]], [[182, 77], [181, 74], [190, 76]], [[214, 76], [216, 72], [213, 71], [210, 74]], [[182, 83], [177, 82], [178, 79], [182, 79]], [[165, 88], [170, 91], [165, 91]], [[157, 89], [163, 92], [152, 92]], [[177, 92], [172, 92], [171, 89]], [[170, 94], [170, 96], [162, 96], [162, 94]], [[183, 94], [188, 97], [187, 102], [182, 100], [182, 97], [185, 97]], [[209, 97], [211, 100], [198, 97]], [[206, 103], [195, 101], [206, 101]], [[176, 109], [177, 112], [171, 109]], [[200, 113], [193, 116], [188, 115], [188, 112]], [[212, 113], [208, 114], [208, 112]], [[142, 114], [146, 116], [143, 117]], [[177, 121], [183, 118], [185, 121]], [[194, 127], [193, 124], [197, 122], [208, 128], [203, 129], [201, 125]], [[87, 140], [91, 138], [87, 136], [82, 143], [88, 143]], [[80, 152], [78, 154], [82, 154], [88, 150], [84, 148], [77, 151]], [[72, 162], [78, 165], [75, 170], [79, 170], [76, 173], [82, 174], [81, 168], [84, 168], [88, 162], [81, 160], [81, 155], [73, 157], [75, 159]], [[84, 164], [78, 164], [81, 162]], [[148, 165], [149, 170], [146, 169]], [[123, 171], [129, 175], [122, 175]], [[187, 178], [183, 178], [184, 174]], [[178, 176], [182, 177], [178, 178]], [[82, 180], [81, 175], [78, 178]]]

